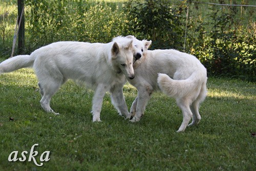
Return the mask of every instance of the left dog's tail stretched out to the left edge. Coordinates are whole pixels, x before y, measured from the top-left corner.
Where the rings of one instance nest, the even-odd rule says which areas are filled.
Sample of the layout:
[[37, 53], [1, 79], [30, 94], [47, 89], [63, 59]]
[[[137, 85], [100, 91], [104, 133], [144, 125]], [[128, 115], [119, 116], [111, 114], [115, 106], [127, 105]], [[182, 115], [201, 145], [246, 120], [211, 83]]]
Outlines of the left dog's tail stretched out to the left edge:
[[18, 55], [4, 60], [0, 63], [0, 75], [21, 68], [33, 67], [34, 61], [34, 55]]

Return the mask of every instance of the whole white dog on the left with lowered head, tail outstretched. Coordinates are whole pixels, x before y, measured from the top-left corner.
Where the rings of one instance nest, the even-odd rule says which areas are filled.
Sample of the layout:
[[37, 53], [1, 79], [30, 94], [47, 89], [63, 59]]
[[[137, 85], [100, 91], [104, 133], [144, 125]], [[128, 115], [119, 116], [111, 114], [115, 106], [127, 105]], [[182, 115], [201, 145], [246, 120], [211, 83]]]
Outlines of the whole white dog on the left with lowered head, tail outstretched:
[[46, 112], [51, 97], [68, 79], [86, 82], [95, 89], [93, 121], [100, 121], [103, 97], [111, 93], [112, 103], [120, 115], [129, 112], [123, 97], [126, 78], [134, 78], [133, 57], [136, 50], [130, 38], [116, 37], [108, 44], [60, 41], [41, 47], [31, 55], [19, 55], [0, 63], [0, 74], [33, 67], [38, 78], [41, 106]]

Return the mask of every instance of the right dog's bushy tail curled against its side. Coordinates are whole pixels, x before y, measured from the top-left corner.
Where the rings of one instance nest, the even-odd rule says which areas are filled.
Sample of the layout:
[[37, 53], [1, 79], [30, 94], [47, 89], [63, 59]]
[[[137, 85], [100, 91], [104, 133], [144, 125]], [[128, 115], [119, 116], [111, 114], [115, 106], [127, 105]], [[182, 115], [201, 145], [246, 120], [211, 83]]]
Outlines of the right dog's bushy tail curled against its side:
[[[206, 72], [194, 72], [187, 79], [174, 80], [166, 74], [158, 74], [157, 83], [163, 93], [170, 97], [185, 97], [206, 85]], [[198, 92], [198, 91], [197, 91]]]

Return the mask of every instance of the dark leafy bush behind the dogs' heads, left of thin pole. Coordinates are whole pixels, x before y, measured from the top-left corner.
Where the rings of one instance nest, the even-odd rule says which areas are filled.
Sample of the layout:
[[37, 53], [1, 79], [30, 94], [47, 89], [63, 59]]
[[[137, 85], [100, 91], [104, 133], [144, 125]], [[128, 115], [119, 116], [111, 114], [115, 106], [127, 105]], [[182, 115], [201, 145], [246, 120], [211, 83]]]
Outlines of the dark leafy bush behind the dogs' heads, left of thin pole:
[[182, 47], [182, 17], [171, 1], [133, 0], [126, 3], [125, 11], [130, 31], [140, 39], [151, 39], [152, 49]]

